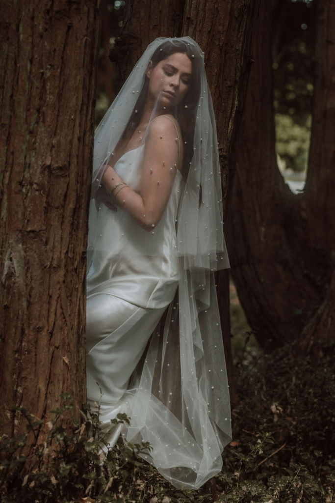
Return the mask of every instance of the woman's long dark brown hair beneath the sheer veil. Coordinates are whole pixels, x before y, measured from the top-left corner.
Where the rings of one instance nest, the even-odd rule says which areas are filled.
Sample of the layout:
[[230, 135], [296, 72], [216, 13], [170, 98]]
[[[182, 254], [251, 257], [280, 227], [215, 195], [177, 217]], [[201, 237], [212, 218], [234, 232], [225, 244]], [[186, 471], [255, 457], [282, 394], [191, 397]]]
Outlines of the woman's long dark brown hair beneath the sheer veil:
[[[193, 157], [193, 137], [194, 137], [194, 127], [195, 118], [197, 112], [197, 105], [200, 98], [200, 55], [197, 50], [192, 51], [191, 46], [186, 42], [181, 40], [167, 40], [157, 47], [153, 53], [151, 60], [153, 68], [163, 59], [166, 59], [171, 54], [181, 52], [188, 56], [192, 63], [192, 77], [191, 85], [188, 93], [184, 99], [174, 108], [173, 115], [178, 121], [181, 129], [182, 140], [184, 142], [184, 156], [183, 156], [183, 170], [182, 175], [185, 181], [187, 180], [187, 175], [189, 172], [190, 162]], [[134, 129], [138, 127], [142, 113], [144, 110], [145, 103], [147, 101], [149, 89], [149, 78], [145, 76], [144, 85], [139, 98], [136, 102], [136, 106], [133, 113], [128, 121], [128, 124], [124, 130], [123, 136], [129, 133], [133, 133]], [[186, 108], [185, 108], [186, 107]], [[185, 143], [186, 142], [186, 143]], [[200, 187], [200, 197], [201, 201], [201, 187]]]

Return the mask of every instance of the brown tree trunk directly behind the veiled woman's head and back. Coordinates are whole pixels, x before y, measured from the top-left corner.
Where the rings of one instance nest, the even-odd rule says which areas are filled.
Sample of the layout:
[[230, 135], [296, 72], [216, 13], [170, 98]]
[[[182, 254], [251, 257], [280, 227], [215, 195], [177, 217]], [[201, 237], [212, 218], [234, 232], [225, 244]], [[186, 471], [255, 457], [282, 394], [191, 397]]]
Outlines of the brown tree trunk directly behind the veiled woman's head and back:
[[[111, 59], [118, 61], [124, 81], [148, 44], [157, 37], [190, 36], [200, 45], [205, 53], [207, 79], [216, 117], [224, 208], [234, 172], [232, 145], [244, 106], [252, 62], [251, 40], [258, 6], [259, 0], [163, 0], [159, 4], [150, 0], [133, 0], [127, 2], [123, 28], [111, 51]], [[225, 211], [225, 215], [226, 213]], [[237, 403], [239, 399], [233, 377], [227, 270], [217, 274], [216, 284], [231, 401]]]

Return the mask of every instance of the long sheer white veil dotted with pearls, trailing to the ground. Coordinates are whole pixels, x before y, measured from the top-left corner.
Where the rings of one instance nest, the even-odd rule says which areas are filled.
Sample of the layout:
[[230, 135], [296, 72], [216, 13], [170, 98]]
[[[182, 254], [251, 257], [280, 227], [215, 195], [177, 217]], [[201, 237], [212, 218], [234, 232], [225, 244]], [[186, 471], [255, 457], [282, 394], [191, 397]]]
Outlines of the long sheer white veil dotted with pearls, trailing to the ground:
[[[175, 168], [180, 152], [183, 154], [173, 222], [176, 239], [168, 248], [177, 266], [178, 288], [167, 304], [164, 323], [158, 323], [131, 377], [122, 410], [131, 418], [130, 425], [125, 424], [121, 433], [125, 443], [150, 442], [153, 449], [142, 457], [174, 486], [196, 489], [220, 471], [221, 453], [232, 439], [229, 386], [214, 283], [214, 272], [230, 265], [223, 232], [215, 119], [204, 54], [189, 37], [157, 38], [152, 42], [96, 129], [88, 269], [94, 254], [103, 257], [108, 249], [108, 240], [100, 238], [108, 225], [107, 216], [102, 216], [93, 199], [102, 184], [105, 166], [113, 158], [125, 131], [137, 127], [148, 88], [146, 72], [150, 60], [155, 64], [162, 59], [160, 53], [164, 56], [176, 47], [192, 63], [188, 93], [181, 103], [166, 110], [166, 115], [178, 122], [181, 133], [179, 137], [173, 129], [174, 143], [169, 145], [163, 162], [169, 173], [164, 179], [166, 183], [170, 183], [168, 176], [172, 177], [170, 187], [179, 175]], [[156, 105], [146, 131], [139, 136], [138, 155], [144, 158], [148, 158], [146, 146], [151, 123], [157, 116]], [[172, 122], [171, 126], [174, 128]], [[157, 141], [164, 145], [165, 138]], [[142, 170], [146, 169], [152, 170], [149, 163], [143, 163]], [[124, 180], [127, 182], [127, 176]], [[161, 184], [157, 184], [157, 190]], [[104, 215], [114, 218], [111, 210]], [[159, 224], [147, 233], [145, 243], [137, 242], [135, 233], [124, 248], [121, 248], [123, 229], [113, 232], [109, 239], [120, 242], [121, 254], [129, 254], [131, 260], [133, 250], [137, 257], [140, 254], [151, 257], [155, 267], [158, 244], [165, 238]]]

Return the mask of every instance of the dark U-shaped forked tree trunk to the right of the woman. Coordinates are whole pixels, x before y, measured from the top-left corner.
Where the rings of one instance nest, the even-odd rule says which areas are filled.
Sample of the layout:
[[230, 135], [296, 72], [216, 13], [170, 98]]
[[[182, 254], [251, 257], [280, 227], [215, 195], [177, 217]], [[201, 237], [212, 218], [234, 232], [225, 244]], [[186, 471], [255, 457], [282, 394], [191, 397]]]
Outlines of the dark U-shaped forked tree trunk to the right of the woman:
[[[232, 274], [258, 341], [261, 345], [270, 342], [272, 347], [297, 339], [322, 302], [334, 267], [335, 200], [329, 196], [334, 193], [335, 177], [334, 143], [330, 141], [335, 120], [331, 81], [335, 57], [334, 44], [325, 40], [334, 39], [335, 17], [331, 0], [322, 0], [319, 6], [320, 60], [316, 66], [311, 155], [304, 193], [291, 193], [276, 164], [273, 5], [267, 0], [261, 0], [253, 49], [255, 64], [237, 145], [228, 232]], [[321, 57], [323, 49], [326, 54]], [[325, 95], [321, 82], [327, 85]], [[330, 136], [324, 131], [327, 126], [323, 114]]]

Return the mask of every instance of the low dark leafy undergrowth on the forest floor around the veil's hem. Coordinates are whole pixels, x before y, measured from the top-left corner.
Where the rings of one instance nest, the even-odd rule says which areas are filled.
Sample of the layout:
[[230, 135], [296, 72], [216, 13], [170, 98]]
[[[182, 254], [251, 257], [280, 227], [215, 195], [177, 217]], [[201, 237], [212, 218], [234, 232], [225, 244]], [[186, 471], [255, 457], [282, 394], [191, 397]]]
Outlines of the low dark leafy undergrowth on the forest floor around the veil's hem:
[[[335, 493], [335, 347], [323, 347], [321, 364], [294, 359], [291, 345], [269, 353], [248, 349], [236, 362], [240, 405], [232, 410], [233, 442], [223, 453], [222, 472], [212, 479], [220, 502], [330, 503]], [[67, 407], [67, 408], [66, 408]], [[85, 411], [82, 425], [72, 418], [71, 434], [57, 426], [73, 410], [68, 396], [55, 411], [39, 463], [22, 474], [27, 436], [41, 428], [26, 410], [26, 436], [3, 439], [0, 495], [4, 503], [77, 501], [76, 491], [96, 502], [210, 503], [209, 484], [199, 490], [176, 489], [138, 457], [149, 444], [117, 445], [99, 454], [105, 442], [99, 411]], [[128, 421], [121, 414], [115, 423]], [[85, 432], [90, 429], [91, 438]], [[94, 440], [95, 439], [95, 440]]]

